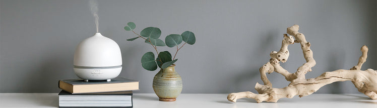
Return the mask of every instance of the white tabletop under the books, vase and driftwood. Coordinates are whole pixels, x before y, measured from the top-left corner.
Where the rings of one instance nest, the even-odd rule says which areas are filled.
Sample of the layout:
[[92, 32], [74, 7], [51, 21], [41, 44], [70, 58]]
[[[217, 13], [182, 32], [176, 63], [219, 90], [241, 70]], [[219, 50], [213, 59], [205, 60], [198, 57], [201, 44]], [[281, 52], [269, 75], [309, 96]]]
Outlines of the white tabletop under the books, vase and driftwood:
[[[364, 94], [311, 94], [304, 97], [282, 98], [277, 103], [256, 103], [241, 98], [236, 103], [227, 94], [180, 94], [176, 101], [158, 101], [156, 94], [134, 94], [134, 107], [377, 107], [377, 100]], [[57, 107], [57, 93], [0, 93], [0, 107]]]

